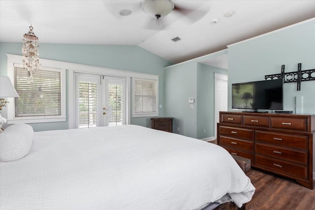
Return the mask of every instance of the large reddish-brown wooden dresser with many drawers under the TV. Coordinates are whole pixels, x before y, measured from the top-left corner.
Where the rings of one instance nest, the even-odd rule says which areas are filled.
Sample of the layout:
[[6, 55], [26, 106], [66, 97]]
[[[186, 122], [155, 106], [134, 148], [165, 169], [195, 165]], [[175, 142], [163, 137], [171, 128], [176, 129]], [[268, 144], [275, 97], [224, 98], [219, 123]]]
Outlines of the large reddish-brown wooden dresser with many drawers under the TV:
[[218, 145], [313, 189], [315, 115], [220, 112]]

